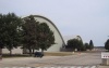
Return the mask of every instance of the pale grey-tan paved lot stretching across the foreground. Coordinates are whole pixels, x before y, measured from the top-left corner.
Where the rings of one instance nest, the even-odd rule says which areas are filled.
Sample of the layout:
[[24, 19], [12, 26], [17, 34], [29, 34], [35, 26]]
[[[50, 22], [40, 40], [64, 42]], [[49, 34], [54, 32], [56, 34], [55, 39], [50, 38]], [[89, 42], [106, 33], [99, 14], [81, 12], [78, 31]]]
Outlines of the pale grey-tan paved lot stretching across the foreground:
[[4, 58], [0, 60], [0, 67], [72, 67], [72, 68], [98, 68], [101, 64], [100, 52], [81, 53], [70, 56], [44, 56]]

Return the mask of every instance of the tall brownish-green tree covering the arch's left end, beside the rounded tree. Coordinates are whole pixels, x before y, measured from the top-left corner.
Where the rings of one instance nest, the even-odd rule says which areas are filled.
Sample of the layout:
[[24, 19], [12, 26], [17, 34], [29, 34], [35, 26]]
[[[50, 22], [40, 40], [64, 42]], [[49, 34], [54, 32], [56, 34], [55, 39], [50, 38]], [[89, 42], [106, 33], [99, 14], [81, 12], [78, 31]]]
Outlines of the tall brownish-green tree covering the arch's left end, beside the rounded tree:
[[38, 38], [39, 38], [39, 23], [35, 21], [33, 15], [24, 18], [23, 24], [23, 49], [29, 50], [29, 55], [32, 55], [32, 50], [38, 47]]

